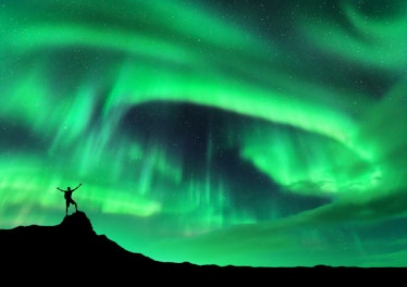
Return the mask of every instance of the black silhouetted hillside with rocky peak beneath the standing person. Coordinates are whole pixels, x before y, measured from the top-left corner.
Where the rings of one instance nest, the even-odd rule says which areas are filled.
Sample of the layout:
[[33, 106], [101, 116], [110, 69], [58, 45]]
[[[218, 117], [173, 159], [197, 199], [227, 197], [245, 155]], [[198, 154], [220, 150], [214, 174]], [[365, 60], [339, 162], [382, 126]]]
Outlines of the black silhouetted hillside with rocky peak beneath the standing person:
[[[266, 279], [284, 279], [285, 284], [303, 280], [346, 282], [355, 278], [399, 272], [403, 269], [331, 267], [250, 267], [196, 265], [188, 262], [160, 262], [141, 253], [131, 252], [106, 235], [95, 233], [84, 212], [66, 215], [54, 226], [17, 226], [0, 229], [1, 280], [40, 284], [107, 284], [114, 280], [149, 284], [202, 284], [229, 280], [230, 283]], [[259, 282], [260, 283], [260, 282]], [[304, 282], [303, 282], [304, 283]], [[324, 282], [326, 284], [326, 282]], [[10, 284], [9, 284], [10, 285]]]

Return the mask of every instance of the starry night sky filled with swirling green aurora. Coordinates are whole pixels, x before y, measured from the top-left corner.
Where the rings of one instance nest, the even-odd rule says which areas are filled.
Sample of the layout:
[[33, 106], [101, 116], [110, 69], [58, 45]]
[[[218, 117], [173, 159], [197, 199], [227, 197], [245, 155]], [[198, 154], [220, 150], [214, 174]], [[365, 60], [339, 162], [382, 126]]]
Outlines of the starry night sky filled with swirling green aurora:
[[[407, 266], [407, 1], [0, 0], [0, 228], [158, 261]], [[69, 213], [74, 212], [71, 205]]]

